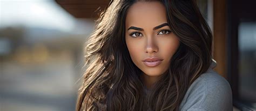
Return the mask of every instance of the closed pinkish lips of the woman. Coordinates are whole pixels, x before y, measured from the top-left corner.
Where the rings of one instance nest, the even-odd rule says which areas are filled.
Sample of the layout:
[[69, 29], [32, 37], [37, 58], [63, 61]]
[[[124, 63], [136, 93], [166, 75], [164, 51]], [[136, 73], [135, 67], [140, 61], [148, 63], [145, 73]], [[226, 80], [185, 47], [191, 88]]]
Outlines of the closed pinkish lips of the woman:
[[161, 61], [163, 61], [163, 60], [158, 57], [147, 57], [147, 58], [145, 58], [145, 60], [143, 60], [143, 63], [146, 66], [153, 67], [153, 66], [159, 65], [161, 63]]

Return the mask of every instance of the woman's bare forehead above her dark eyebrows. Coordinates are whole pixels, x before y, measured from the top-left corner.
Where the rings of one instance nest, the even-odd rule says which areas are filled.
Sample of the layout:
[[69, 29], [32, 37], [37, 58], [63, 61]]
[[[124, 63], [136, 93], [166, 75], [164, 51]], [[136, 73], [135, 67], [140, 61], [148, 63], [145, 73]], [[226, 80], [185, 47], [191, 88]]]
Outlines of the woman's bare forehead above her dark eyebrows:
[[126, 15], [126, 27], [155, 27], [167, 23], [165, 6], [161, 2], [136, 2]]

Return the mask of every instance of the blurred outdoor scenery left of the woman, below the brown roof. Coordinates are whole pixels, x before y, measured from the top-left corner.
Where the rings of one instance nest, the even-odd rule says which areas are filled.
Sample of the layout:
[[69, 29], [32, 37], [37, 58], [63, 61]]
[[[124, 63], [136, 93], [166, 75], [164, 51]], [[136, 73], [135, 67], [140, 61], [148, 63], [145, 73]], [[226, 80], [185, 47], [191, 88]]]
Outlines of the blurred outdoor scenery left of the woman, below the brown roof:
[[75, 110], [93, 20], [56, 1], [1, 0], [0, 110]]

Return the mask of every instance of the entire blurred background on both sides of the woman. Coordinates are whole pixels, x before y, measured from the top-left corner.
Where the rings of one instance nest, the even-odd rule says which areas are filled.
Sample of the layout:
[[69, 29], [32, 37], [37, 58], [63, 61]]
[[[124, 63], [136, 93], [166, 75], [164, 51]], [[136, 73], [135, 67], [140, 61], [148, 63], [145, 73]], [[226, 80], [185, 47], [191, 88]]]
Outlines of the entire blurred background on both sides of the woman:
[[[84, 46], [110, 0], [0, 0], [0, 111], [75, 110]], [[256, 110], [255, 1], [197, 0], [234, 110]]]

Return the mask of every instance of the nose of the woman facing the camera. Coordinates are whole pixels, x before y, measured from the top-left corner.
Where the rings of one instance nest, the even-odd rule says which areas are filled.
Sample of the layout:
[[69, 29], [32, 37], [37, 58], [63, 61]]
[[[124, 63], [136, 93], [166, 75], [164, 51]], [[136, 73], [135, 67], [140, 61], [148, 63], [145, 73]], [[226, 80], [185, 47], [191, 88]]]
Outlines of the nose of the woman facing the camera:
[[158, 46], [157, 46], [156, 40], [154, 40], [151, 37], [147, 38], [145, 53], [151, 54], [151, 53], [157, 53], [157, 52], [158, 52]]

